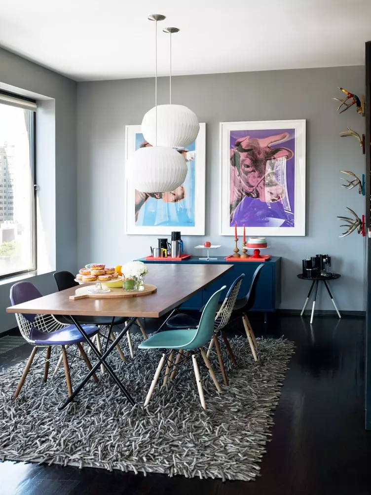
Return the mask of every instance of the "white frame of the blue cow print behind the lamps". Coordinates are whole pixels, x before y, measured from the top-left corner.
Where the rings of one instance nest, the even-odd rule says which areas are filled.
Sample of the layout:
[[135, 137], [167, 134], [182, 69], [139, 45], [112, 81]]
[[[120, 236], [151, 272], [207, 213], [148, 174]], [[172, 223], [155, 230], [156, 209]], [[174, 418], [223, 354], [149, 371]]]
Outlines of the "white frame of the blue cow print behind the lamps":
[[[127, 167], [128, 159], [132, 153], [136, 151], [138, 147], [138, 139], [141, 134], [140, 125], [127, 125], [125, 127], [125, 163]], [[188, 177], [185, 184], [188, 184], [188, 189], [192, 189], [192, 198], [187, 198], [187, 192], [185, 190], [184, 201], [189, 201], [189, 208], [187, 211], [191, 212], [192, 226], [187, 226], [186, 222], [182, 224], [182, 221], [177, 219], [178, 224], [174, 224], [174, 219], [170, 219], [169, 223], [172, 225], [143, 225], [143, 221], [139, 215], [144, 213], [138, 213], [138, 205], [136, 206], [136, 191], [130, 184], [128, 179], [128, 173], [125, 173], [126, 177], [126, 234], [137, 235], [156, 235], [156, 236], [169, 236], [172, 231], [181, 231], [183, 236], [203, 236], [205, 235], [205, 175], [206, 175], [206, 124], [200, 123], [200, 131], [194, 145], [190, 145], [189, 148], [194, 148], [194, 151], [189, 151], [190, 159], [195, 159], [194, 163], [194, 178]], [[192, 155], [193, 153], [193, 155]], [[193, 158], [192, 158], [193, 156]], [[189, 165], [188, 165], [189, 167]], [[192, 182], [190, 182], [192, 181]], [[194, 189], [193, 189], [194, 188]], [[162, 196], [162, 195], [160, 195]], [[189, 195], [190, 196], [190, 195]], [[152, 201], [152, 208], [157, 208], [157, 201], [161, 201], [162, 198], [148, 198]], [[183, 201], [180, 200], [180, 201]], [[179, 202], [180, 202], [179, 201]], [[191, 201], [191, 202], [190, 202]], [[163, 200], [167, 203], [166, 212], [170, 209], [174, 212], [174, 206], [170, 206], [171, 202]], [[187, 203], [183, 203], [187, 205]], [[161, 203], [162, 209], [165, 206]], [[188, 207], [188, 206], [187, 206]], [[136, 217], [136, 215], [138, 215]], [[174, 215], [173, 215], [174, 217]], [[189, 215], [188, 215], [189, 218]], [[167, 220], [166, 220], [167, 221]]]

